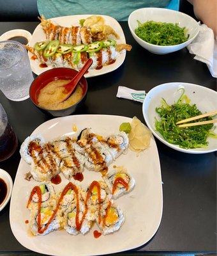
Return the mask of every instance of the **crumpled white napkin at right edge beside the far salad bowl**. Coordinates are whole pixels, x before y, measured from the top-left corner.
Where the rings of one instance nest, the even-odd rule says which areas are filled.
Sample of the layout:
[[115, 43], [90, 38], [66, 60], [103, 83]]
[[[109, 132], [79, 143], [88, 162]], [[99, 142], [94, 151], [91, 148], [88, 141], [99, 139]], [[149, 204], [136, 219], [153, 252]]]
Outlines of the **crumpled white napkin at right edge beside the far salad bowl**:
[[211, 28], [200, 25], [197, 37], [187, 48], [190, 53], [196, 54], [195, 60], [206, 63], [211, 75], [217, 77], [217, 45]]

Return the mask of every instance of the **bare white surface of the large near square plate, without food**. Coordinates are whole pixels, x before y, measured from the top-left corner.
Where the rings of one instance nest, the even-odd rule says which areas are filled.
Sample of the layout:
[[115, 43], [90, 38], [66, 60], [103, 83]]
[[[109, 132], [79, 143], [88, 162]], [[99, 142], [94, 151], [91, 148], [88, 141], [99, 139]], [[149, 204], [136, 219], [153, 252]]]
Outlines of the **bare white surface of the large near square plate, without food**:
[[[40, 133], [46, 140], [53, 140], [66, 134], [77, 135], [82, 129], [91, 127], [94, 132], [107, 136], [118, 132], [122, 122], [131, 122], [131, 118], [112, 115], [66, 116], [41, 124], [33, 134]], [[77, 133], [72, 131], [73, 124], [78, 127]], [[38, 183], [24, 179], [24, 174], [29, 172], [29, 166], [21, 159], [10, 204], [11, 230], [19, 243], [34, 252], [59, 256], [68, 256], [72, 253], [77, 256], [116, 253], [147, 243], [160, 225], [163, 210], [160, 161], [153, 136], [147, 150], [138, 156], [128, 150], [126, 155], [120, 156], [113, 164], [126, 167], [136, 181], [133, 191], [116, 200], [126, 219], [120, 230], [114, 234], [100, 236], [98, 239], [93, 236], [93, 231], [97, 229], [96, 225], [85, 236], [70, 236], [59, 230], [47, 236], [33, 237], [28, 234], [28, 225], [25, 224], [25, 221], [29, 220], [26, 203], [31, 189]], [[61, 178], [61, 184], [54, 185], [56, 191], [68, 183], [63, 176]], [[100, 180], [100, 173], [84, 170], [81, 185], [90, 184], [93, 180]]]

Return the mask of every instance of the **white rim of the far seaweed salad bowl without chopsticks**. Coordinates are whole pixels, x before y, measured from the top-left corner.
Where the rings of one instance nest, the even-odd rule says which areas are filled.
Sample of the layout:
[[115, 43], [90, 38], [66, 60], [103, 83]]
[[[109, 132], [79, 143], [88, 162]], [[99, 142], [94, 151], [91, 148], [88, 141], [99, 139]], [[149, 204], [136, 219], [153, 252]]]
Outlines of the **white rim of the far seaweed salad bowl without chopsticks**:
[[[133, 16], [133, 13], [134, 12], [137, 12], [138, 10], [146, 10], [146, 9], [151, 9], [151, 10], [163, 10], [163, 12], [175, 12], [175, 13], [182, 13], [182, 15], [185, 15], [185, 16], [188, 16], [191, 20], [193, 20], [193, 22], [195, 22], [195, 25], [197, 26], [197, 32], [195, 33], [194, 36], [192, 36], [191, 38], [189, 38], [187, 41], [181, 43], [181, 44], [175, 44], [175, 45], [156, 45], [156, 44], [150, 44], [149, 42], [146, 42], [144, 40], [142, 40], [142, 38], [138, 37], [136, 35], [136, 33], [133, 31], [133, 29], [131, 28], [131, 25], [130, 25], [130, 19], [131, 19], [131, 16]], [[170, 10], [170, 9], [166, 9], [166, 8], [155, 8], [155, 7], [147, 7], [147, 8], [140, 8], [140, 9], [137, 9], [137, 10], [134, 10], [133, 12], [130, 13], [129, 17], [128, 17], [128, 26], [130, 28], [130, 31], [133, 33], [133, 35], [135, 35], [137, 37], [138, 40], [140, 40], [140, 42], [145, 42], [147, 45], [151, 45], [153, 47], [156, 47], [156, 48], [166, 48], [168, 47], [169, 48], [172, 48], [172, 47], [175, 47], [175, 46], [183, 46], [184, 44], [188, 44], [188, 42], [190, 40], [193, 40], [199, 33], [199, 24], [197, 23], [197, 20], [193, 19], [190, 15], [186, 14], [186, 13], [183, 13], [183, 12], [179, 12], [179, 11], [175, 11], [175, 10]]]

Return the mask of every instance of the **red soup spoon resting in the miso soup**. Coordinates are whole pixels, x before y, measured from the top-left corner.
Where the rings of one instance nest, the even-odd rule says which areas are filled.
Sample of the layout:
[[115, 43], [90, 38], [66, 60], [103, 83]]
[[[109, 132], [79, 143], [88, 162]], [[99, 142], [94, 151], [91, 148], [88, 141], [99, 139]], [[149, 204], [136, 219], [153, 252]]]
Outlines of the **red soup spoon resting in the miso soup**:
[[82, 67], [82, 69], [70, 81], [70, 83], [63, 85], [63, 87], [65, 89], [65, 92], [66, 92], [66, 97], [62, 100], [62, 102], [64, 100], [68, 99], [68, 97], [70, 97], [71, 93], [74, 92], [74, 90], [75, 90], [77, 84], [79, 83], [80, 79], [82, 78], [82, 76], [84, 76], [84, 74], [89, 69], [89, 67], [91, 67], [92, 63], [93, 63], [93, 60], [91, 58], [88, 59], [86, 61], [86, 63], [84, 64], [84, 66]]

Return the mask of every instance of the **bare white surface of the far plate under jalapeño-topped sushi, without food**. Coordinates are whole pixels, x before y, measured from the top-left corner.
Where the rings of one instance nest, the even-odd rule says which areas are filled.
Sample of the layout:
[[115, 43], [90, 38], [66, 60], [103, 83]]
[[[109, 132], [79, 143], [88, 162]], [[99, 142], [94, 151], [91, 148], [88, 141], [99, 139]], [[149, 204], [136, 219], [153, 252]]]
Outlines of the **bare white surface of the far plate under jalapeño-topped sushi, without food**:
[[[71, 15], [71, 16], [56, 17], [56, 18], [52, 18], [50, 20], [52, 20], [53, 22], [56, 22], [57, 24], [59, 24], [61, 26], [65, 26], [65, 27], [80, 26], [79, 20], [86, 19], [87, 17], [89, 17], [91, 15], [93, 15], [93, 14]], [[110, 16], [107, 16], [107, 15], [100, 15], [100, 16], [105, 19], [105, 24], [111, 26], [116, 31], [116, 33], [119, 35], [120, 38], [118, 40], [116, 40], [117, 44], [125, 44], [126, 40], [125, 40], [124, 32], [123, 32], [123, 29], [121, 28], [120, 24], [117, 22], [117, 20]], [[46, 37], [45, 37], [45, 33], [43, 32], [43, 29], [41, 28], [41, 25], [39, 24], [36, 27], [36, 29], [34, 29], [33, 36], [31, 38], [31, 41], [29, 42], [29, 46], [34, 47], [34, 44], [36, 42], [40, 42], [43, 40], [46, 40]], [[51, 69], [50, 67], [41, 68], [40, 61], [32, 60], [31, 57], [33, 56], [33, 54], [31, 54], [31, 52], [28, 52], [28, 54], [29, 54], [31, 68], [36, 75], [40, 75], [41, 73], [45, 72], [46, 70]], [[100, 70], [89, 69], [88, 73], [84, 76], [87, 78], [87, 77], [93, 77], [93, 76], [100, 76], [100, 75], [112, 72], [121, 66], [121, 64], [125, 60], [125, 57], [126, 57], [126, 52], [123, 51], [123, 52], [121, 52], [121, 54], [119, 54], [115, 63], [107, 65], [107, 66], [101, 68]]]

